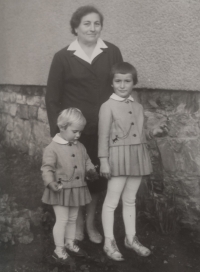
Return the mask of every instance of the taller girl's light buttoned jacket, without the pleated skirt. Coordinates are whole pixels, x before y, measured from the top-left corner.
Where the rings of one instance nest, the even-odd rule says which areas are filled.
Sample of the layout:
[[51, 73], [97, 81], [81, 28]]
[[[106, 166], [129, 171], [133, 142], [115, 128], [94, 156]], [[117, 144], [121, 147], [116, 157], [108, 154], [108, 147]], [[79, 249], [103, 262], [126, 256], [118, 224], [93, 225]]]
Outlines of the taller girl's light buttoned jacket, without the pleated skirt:
[[98, 157], [109, 157], [109, 147], [146, 143], [143, 107], [133, 99], [110, 98], [100, 108]]

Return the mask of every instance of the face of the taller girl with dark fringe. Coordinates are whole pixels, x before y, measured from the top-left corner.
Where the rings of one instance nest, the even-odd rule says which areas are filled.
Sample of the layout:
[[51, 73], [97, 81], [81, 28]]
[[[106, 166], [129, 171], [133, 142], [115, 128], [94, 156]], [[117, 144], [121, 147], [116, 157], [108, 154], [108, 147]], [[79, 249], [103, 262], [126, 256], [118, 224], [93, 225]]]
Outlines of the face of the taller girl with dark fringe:
[[132, 74], [115, 74], [112, 87], [114, 92], [122, 97], [128, 98], [133, 90], [134, 82]]

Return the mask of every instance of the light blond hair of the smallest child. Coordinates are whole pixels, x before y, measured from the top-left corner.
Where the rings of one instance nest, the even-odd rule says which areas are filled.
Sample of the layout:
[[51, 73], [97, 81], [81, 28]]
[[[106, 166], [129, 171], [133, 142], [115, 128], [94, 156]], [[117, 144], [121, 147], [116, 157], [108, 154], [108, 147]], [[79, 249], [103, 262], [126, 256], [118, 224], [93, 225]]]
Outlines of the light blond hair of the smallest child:
[[85, 126], [86, 119], [82, 112], [77, 108], [68, 108], [61, 111], [57, 119], [57, 125], [59, 129], [66, 129], [72, 124], [80, 124]]

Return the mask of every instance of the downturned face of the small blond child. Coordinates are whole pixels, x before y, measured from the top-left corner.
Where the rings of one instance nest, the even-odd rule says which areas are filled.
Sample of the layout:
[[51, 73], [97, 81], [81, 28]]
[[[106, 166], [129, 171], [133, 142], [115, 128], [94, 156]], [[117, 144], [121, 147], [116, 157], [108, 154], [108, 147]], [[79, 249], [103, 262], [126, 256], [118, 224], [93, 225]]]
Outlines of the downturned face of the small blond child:
[[61, 129], [60, 135], [66, 141], [73, 142], [80, 138], [83, 129], [84, 125], [82, 124], [71, 124], [66, 129]]

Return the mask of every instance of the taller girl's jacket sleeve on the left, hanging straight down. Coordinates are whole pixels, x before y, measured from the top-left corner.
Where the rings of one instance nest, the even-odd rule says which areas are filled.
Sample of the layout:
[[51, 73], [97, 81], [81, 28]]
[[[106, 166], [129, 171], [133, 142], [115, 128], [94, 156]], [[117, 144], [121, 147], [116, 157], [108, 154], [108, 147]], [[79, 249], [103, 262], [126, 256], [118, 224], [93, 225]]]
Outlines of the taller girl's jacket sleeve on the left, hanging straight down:
[[98, 127], [98, 157], [109, 157], [110, 129], [112, 124], [112, 112], [110, 107], [104, 103], [99, 112]]

